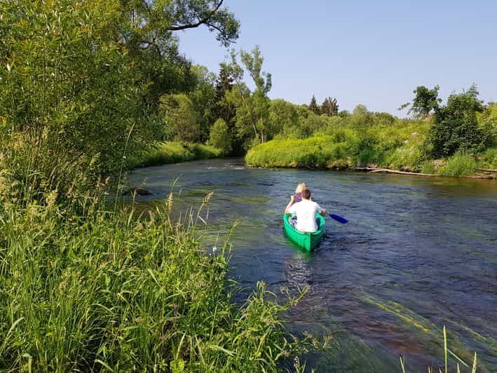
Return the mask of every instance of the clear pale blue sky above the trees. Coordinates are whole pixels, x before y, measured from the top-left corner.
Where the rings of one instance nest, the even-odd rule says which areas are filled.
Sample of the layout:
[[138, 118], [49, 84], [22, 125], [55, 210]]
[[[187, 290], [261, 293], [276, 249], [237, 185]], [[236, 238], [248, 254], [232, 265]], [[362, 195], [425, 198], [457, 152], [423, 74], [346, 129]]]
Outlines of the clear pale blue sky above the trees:
[[[336, 97], [340, 110], [365, 104], [397, 111], [416, 86], [442, 98], [477, 83], [497, 101], [497, 0], [225, 0], [240, 20], [233, 45], [259, 45], [273, 75], [271, 98], [296, 104]], [[205, 27], [177, 34], [189, 59], [219, 71], [227, 55]], [[249, 76], [246, 74], [246, 79]]]

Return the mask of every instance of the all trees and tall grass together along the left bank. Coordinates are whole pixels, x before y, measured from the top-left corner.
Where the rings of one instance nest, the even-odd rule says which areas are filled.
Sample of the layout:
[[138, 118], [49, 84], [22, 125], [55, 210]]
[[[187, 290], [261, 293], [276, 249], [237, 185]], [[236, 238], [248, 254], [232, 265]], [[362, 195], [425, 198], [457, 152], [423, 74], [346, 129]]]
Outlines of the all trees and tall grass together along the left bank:
[[201, 25], [238, 36], [222, 1], [0, 1], [0, 370], [275, 371], [297, 353], [279, 319], [297, 299], [261, 284], [234, 304], [200, 215], [118, 202], [123, 168], [221, 152], [190, 143], [223, 140], [213, 76], [174, 36]]

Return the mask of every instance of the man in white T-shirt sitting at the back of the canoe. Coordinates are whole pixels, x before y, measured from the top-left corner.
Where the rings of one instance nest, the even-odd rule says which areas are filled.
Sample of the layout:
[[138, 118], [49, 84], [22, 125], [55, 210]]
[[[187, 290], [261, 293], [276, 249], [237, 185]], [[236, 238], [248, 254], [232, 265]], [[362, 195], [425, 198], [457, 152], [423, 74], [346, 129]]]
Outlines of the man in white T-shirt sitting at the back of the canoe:
[[311, 190], [304, 189], [301, 191], [302, 201], [294, 202], [295, 196], [290, 198], [290, 202], [285, 208], [285, 214], [297, 215], [297, 224], [295, 228], [301, 232], [315, 232], [319, 229], [319, 219], [315, 215], [326, 215], [326, 210], [321, 208], [318, 203], [311, 201]]

